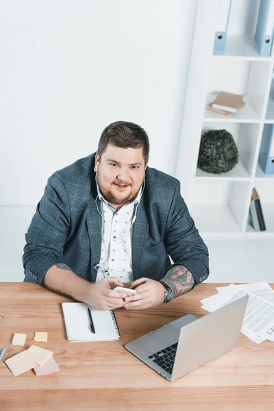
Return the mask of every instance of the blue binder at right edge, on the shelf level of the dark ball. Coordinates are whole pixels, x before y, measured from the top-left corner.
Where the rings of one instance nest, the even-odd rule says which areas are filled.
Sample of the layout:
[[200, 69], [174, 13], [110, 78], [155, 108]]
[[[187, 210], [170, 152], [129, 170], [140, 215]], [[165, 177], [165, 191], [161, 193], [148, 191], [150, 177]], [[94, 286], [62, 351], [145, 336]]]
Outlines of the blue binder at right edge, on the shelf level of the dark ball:
[[274, 174], [274, 125], [265, 124], [260, 147], [259, 163], [264, 174]]

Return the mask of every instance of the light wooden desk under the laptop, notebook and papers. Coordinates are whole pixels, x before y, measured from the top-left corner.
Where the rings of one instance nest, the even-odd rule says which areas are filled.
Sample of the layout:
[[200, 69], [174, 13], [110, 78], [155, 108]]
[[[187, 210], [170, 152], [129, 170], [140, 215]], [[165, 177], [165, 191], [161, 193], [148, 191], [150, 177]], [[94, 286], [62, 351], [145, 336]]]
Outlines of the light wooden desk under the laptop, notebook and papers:
[[[221, 285], [201, 284], [153, 310], [116, 310], [121, 340], [69, 343], [61, 308], [69, 298], [38, 284], [0, 283], [0, 348], [7, 348], [3, 360], [23, 351], [12, 346], [18, 332], [27, 334], [25, 347], [34, 343], [53, 351], [60, 367], [52, 375], [36, 377], [28, 371], [14, 377], [1, 360], [0, 410], [273, 410], [274, 343], [256, 345], [240, 334], [233, 351], [172, 383], [123, 348], [179, 316], [208, 314], [199, 300]], [[35, 343], [36, 331], [48, 332], [48, 343]]]

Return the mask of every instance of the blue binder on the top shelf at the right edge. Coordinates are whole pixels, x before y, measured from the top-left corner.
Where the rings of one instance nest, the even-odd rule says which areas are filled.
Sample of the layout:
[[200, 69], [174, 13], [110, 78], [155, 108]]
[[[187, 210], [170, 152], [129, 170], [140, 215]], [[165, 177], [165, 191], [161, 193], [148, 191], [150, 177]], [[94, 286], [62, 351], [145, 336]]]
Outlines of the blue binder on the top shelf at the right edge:
[[271, 55], [273, 43], [273, 21], [274, 0], [261, 0], [254, 38], [258, 45], [260, 55], [264, 57]]

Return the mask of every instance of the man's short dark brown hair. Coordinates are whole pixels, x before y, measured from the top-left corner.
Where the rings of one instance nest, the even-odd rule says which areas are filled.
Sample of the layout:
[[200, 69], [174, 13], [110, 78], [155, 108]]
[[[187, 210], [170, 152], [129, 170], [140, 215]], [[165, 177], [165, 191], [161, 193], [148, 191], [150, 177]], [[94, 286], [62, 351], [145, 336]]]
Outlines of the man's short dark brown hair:
[[149, 136], [145, 130], [135, 123], [129, 121], [115, 121], [103, 130], [97, 153], [99, 157], [105, 152], [108, 144], [115, 147], [137, 149], [142, 147], [142, 155], [145, 158], [145, 164], [149, 160]]

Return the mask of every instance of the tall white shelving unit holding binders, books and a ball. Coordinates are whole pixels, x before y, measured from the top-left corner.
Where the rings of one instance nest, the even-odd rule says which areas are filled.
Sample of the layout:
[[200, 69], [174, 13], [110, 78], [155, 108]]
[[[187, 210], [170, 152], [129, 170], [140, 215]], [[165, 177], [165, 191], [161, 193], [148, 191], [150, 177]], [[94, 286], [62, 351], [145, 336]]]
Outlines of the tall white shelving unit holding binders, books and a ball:
[[[199, 0], [197, 6], [176, 177], [210, 247], [240, 239], [263, 239], [274, 247], [274, 175], [264, 175], [258, 164], [264, 125], [274, 123], [274, 56], [260, 56], [253, 39], [260, 0], [232, 0], [225, 53], [213, 55], [218, 5], [218, 0]], [[207, 110], [220, 90], [245, 95], [245, 108], [229, 116]], [[197, 168], [201, 135], [209, 129], [226, 129], [234, 137], [239, 162], [228, 173]], [[253, 187], [260, 196], [265, 232], [255, 232], [249, 223]]]

